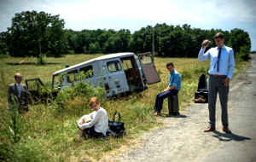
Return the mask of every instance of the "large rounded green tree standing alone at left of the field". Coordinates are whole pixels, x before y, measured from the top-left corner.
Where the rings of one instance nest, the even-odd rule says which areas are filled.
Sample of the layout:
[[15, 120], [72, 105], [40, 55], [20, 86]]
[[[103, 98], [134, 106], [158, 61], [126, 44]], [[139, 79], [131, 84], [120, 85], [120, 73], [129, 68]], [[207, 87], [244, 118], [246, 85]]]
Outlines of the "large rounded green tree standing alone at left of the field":
[[42, 54], [55, 57], [66, 55], [68, 46], [62, 30], [64, 24], [59, 15], [36, 11], [15, 14], [6, 34], [9, 55], [38, 58]]

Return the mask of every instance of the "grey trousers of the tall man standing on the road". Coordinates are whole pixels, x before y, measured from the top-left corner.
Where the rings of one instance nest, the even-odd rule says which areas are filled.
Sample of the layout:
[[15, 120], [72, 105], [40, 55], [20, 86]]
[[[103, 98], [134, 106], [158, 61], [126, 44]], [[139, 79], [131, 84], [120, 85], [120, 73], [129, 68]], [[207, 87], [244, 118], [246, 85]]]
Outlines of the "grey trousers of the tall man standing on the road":
[[209, 109], [209, 124], [215, 126], [215, 114], [216, 114], [216, 100], [217, 94], [221, 105], [221, 121], [223, 126], [229, 126], [228, 122], [228, 95], [229, 86], [225, 87], [222, 82], [226, 77], [215, 78], [209, 75], [209, 96], [208, 96], [208, 109]]

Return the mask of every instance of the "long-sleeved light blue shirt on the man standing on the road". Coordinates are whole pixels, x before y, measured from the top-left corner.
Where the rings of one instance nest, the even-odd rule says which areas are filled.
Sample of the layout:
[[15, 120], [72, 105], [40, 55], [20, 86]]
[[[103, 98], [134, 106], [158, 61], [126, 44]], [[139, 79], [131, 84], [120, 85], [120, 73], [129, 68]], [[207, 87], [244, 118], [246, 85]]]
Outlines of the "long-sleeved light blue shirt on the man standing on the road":
[[210, 59], [211, 65], [208, 73], [212, 75], [226, 75], [227, 78], [232, 78], [235, 70], [234, 50], [230, 47], [226, 47], [225, 45], [221, 48], [221, 55], [218, 62], [218, 72], [218, 47], [211, 48], [207, 50], [206, 53], [205, 50], [206, 49], [201, 48], [198, 55], [198, 60], [204, 61]]

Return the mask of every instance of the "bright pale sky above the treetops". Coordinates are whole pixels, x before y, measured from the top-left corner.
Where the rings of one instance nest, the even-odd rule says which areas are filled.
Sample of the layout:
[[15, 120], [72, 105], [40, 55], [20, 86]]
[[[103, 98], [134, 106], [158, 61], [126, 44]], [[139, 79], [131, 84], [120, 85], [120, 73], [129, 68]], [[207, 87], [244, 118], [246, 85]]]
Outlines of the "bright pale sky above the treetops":
[[59, 14], [65, 29], [74, 31], [135, 32], [157, 23], [225, 31], [239, 28], [249, 33], [256, 50], [255, 0], [0, 0], [0, 32], [11, 26], [15, 13], [27, 10]]

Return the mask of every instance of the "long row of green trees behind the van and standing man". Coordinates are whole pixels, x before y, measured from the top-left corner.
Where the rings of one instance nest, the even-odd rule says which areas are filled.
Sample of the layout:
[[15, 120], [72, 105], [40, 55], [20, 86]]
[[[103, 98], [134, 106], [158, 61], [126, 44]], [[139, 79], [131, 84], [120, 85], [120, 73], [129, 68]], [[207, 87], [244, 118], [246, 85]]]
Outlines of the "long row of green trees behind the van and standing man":
[[[238, 32], [237, 32], [238, 31]], [[191, 28], [190, 25], [172, 26], [163, 24], [156, 24], [154, 27], [146, 26], [139, 31], [131, 32], [128, 29], [121, 29], [114, 31], [97, 30], [83, 30], [81, 32], [67, 31], [67, 41], [70, 46], [69, 50], [74, 53], [115, 53], [131, 51], [134, 53], [143, 53], [152, 51], [154, 38], [154, 54], [158, 56], [171, 57], [197, 57], [201, 49], [201, 42], [204, 39], [209, 39], [213, 43], [207, 49], [215, 47], [213, 37], [217, 32], [223, 32], [225, 37], [225, 44], [234, 48], [237, 40], [236, 35], [241, 32], [243, 38], [247, 42], [244, 44], [237, 44], [238, 51], [245, 51], [247, 48], [241, 47], [250, 44], [250, 39], [244, 36], [241, 30], [222, 31], [221, 29], [202, 30], [200, 28]], [[250, 47], [250, 46], [249, 46]], [[234, 48], [236, 49], [236, 48]]]

